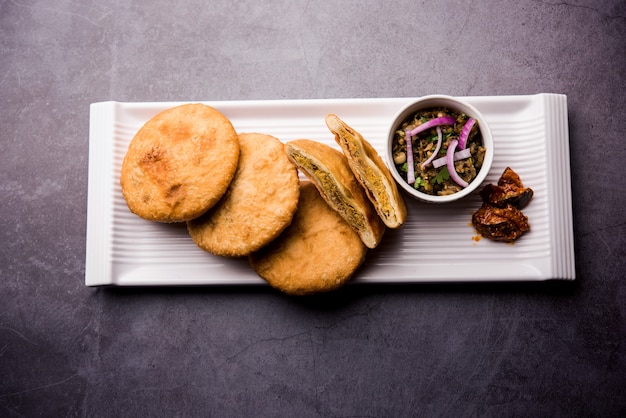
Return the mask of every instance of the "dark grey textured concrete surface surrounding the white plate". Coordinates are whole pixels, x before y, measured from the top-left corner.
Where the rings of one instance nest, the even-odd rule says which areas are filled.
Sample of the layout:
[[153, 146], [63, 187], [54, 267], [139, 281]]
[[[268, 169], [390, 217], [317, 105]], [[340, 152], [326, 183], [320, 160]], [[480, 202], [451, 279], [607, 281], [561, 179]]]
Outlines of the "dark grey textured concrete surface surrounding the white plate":
[[[0, 1], [0, 415], [626, 415], [626, 3]], [[563, 93], [578, 280], [84, 286], [89, 104]]]

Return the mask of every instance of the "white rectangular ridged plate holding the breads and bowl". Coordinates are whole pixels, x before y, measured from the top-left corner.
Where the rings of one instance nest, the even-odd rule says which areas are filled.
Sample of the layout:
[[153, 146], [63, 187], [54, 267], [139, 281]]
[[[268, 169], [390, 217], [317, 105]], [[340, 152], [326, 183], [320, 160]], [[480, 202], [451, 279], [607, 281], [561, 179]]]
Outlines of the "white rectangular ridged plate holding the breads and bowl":
[[[433, 206], [406, 198], [408, 220], [387, 230], [353, 283], [532, 281], [575, 279], [567, 98], [558, 94], [465, 97], [489, 122], [495, 157], [486, 183], [507, 166], [535, 191], [524, 209], [531, 231], [514, 244], [480, 239], [471, 214], [474, 194]], [[238, 132], [283, 142], [308, 138], [337, 147], [324, 123], [335, 113], [384, 155], [388, 126], [412, 98], [204, 102]], [[91, 105], [87, 210], [87, 286], [264, 284], [246, 259], [216, 257], [191, 241], [184, 225], [131, 214], [119, 172], [135, 132], [161, 110], [182, 102]]]

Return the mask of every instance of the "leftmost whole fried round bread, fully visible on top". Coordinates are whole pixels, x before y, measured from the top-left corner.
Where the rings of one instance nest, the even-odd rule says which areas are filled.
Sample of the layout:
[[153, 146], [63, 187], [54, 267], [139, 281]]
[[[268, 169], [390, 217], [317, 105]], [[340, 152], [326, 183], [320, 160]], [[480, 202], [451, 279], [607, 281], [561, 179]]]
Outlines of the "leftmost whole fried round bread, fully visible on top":
[[131, 212], [158, 222], [184, 222], [226, 192], [239, 160], [230, 120], [199, 103], [164, 110], [130, 142], [120, 185]]

